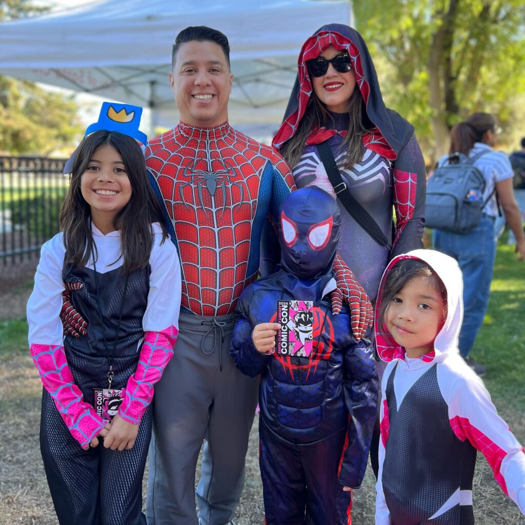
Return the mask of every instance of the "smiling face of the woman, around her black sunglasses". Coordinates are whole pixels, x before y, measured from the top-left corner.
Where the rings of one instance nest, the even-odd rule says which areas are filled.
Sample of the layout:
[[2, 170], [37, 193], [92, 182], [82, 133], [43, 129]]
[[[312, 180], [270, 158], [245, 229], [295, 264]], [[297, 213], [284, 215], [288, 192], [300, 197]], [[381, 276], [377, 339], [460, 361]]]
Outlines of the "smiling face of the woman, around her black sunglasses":
[[[319, 56], [330, 60], [339, 55], [340, 50], [332, 45], [328, 46]], [[339, 73], [332, 64], [322, 77], [312, 77], [313, 90], [324, 106], [334, 113], [348, 111], [349, 100], [355, 89], [355, 75], [353, 71]]]

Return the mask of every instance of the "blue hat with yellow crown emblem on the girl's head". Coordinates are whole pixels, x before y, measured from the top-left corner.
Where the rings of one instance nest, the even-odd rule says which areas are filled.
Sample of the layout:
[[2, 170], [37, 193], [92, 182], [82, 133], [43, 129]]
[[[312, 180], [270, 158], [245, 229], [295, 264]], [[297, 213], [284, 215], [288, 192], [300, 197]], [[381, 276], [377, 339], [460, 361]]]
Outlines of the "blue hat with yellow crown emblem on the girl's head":
[[[90, 124], [84, 137], [87, 137], [93, 131], [107, 130], [118, 131], [123, 135], [128, 135], [133, 139], [141, 142], [144, 146], [148, 144], [148, 137], [142, 131], [139, 131], [142, 108], [140, 106], [131, 106], [131, 104], [117, 104], [114, 102], [102, 102], [100, 115], [97, 122]], [[73, 172], [73, 164], [77, 156], [77, 149], [71, 154], [64, 166], [64, 173]]]

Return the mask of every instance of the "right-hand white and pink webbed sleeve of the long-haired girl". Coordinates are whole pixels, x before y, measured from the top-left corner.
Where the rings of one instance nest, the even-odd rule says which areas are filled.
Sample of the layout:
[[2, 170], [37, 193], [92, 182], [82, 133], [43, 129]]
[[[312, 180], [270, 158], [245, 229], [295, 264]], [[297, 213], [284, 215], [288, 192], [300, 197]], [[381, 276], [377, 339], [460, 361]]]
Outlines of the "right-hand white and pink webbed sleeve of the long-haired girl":
[[154, 385], [173, 356], [178, 335], [181, 307], [181, 268], [175, 246], [170, 240], [159, 244], [155, 236], [150, 265], [148, 306], [142, 319], [144, 342], [137, 370], [126, 385], [119, 415], [128, 423], [140, 424], [153, 399]]

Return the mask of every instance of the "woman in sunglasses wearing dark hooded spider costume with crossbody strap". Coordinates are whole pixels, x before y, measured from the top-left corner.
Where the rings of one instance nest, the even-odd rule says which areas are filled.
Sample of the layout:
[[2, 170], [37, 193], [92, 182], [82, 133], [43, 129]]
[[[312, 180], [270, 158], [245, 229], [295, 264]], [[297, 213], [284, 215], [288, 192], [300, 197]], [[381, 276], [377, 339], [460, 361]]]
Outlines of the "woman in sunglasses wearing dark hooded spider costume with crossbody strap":
[[[422, 247], [426, 178], [414, 128], [385, 107], [372, 58], [355, 29], [341, 24], [318, 29], [302, 46], [298, 68], [273, 145], [298, 188], [313, 184], [337, 198], [339, 254], [374, 303], [388, 261]], [[321, 143], [329, 146], [342, 178], [335, 191], [321, 162]], [[372, 226], [364, 229], [347, 211], [341, 200], [346, 192], [370, 215]], [[386, 245], [374, 240], [371, 227]], [[379, 424], [370, 450], [376, 475], [378, 444]]]

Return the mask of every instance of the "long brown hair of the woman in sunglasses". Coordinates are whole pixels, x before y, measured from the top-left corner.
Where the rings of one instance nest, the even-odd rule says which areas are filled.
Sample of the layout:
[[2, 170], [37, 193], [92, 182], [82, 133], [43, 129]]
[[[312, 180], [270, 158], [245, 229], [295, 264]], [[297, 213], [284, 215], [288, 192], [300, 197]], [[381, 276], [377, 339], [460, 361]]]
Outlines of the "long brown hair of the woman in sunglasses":
[[[340, 166], [343, 169], [350, 169], [363, 158], [363, 135], [369, 133], [369, 130], [373, 128], [373, 124], [366, 114], [363, 97], [357, 86], [355, 86], [348, 102], [350, 122], [348, 132], [341, 145], [341, 149], [345, 150], [345, 156]], [[293, 169], [301, 159], [304, 146], [306, 145], [306, 139], [310, 132], [313, 129], [322, 128], [324, 125], [327, 125], [330, 120], [333, 120], [330, 113], [312, 89], [312, 95], [304, 111], [304, 116], [297, 125], [295, 135], [282, 146], [280, 151], [291, 169]]]

